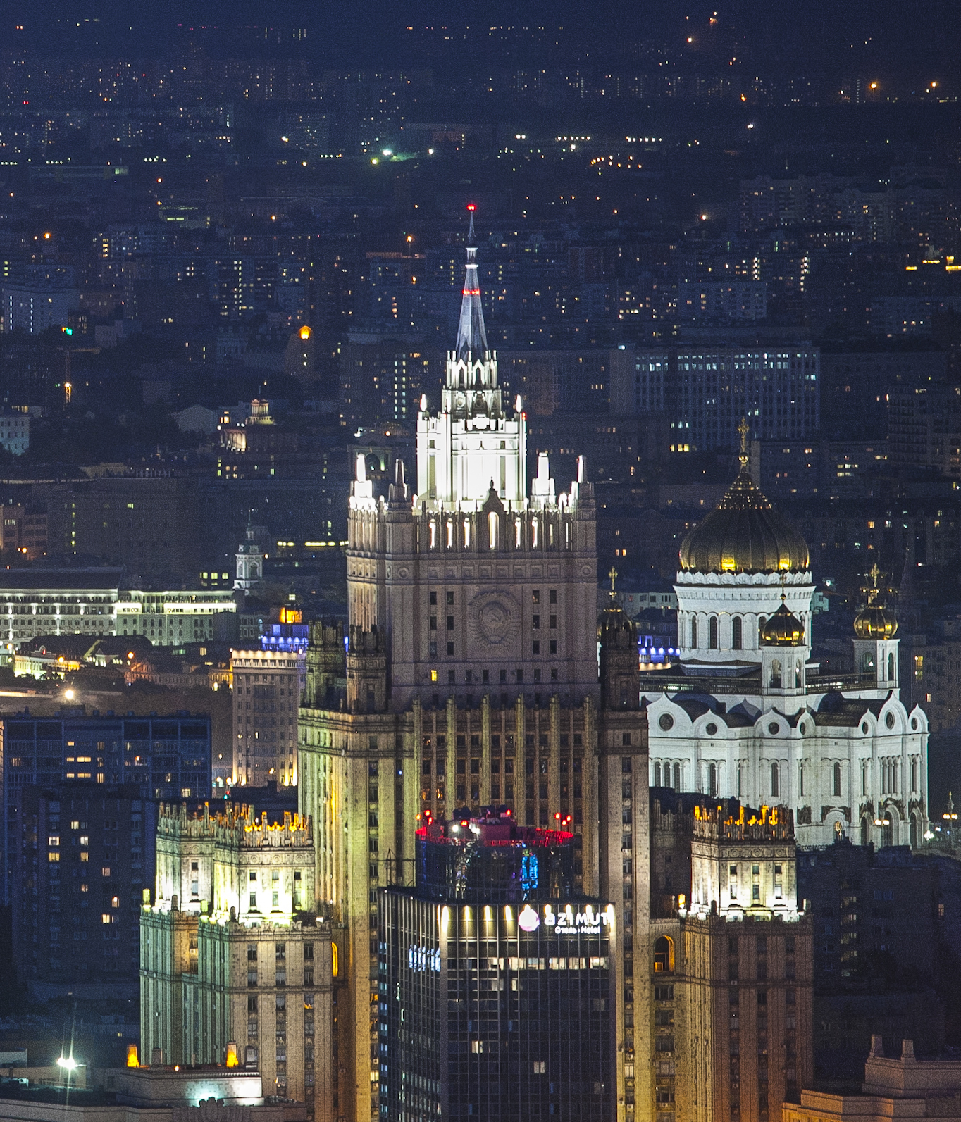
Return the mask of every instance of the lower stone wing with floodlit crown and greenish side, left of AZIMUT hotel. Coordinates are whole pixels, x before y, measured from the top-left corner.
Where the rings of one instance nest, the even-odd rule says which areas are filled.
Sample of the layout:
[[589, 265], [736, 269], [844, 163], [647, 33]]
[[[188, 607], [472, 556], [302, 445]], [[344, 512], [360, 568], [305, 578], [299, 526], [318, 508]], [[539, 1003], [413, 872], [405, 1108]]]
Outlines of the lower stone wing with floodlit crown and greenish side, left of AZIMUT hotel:
[[337, 941], [314, 910], [310, 820], [162, 804], [157, 876], [140, 911], [140, 1045], [167, 1064], [237, 1045], [268, 1094], [339, 1115]]

